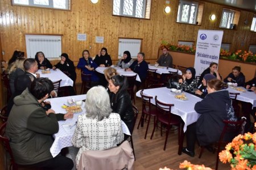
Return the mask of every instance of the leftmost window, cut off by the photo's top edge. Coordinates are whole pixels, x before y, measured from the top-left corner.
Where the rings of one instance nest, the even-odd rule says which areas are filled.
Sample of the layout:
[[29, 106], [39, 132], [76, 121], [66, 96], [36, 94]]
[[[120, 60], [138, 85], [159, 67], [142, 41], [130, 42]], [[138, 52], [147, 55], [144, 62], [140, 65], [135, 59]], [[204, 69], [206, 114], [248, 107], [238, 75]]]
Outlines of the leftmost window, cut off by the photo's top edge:
[[13, 5], [46, 7], [52, 9], [70, 9], [71, 0], [12, 0]]

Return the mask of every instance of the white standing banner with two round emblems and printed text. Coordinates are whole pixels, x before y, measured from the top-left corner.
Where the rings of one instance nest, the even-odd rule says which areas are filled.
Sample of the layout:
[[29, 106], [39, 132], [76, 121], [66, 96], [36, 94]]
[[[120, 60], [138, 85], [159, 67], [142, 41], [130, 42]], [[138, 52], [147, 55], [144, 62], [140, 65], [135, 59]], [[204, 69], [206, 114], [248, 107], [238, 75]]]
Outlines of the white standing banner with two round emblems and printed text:
[[210, 63], [218, 63], [223, 31], [199, 30], [196, 42], [194, 68], [196, 76], [209, 67]]

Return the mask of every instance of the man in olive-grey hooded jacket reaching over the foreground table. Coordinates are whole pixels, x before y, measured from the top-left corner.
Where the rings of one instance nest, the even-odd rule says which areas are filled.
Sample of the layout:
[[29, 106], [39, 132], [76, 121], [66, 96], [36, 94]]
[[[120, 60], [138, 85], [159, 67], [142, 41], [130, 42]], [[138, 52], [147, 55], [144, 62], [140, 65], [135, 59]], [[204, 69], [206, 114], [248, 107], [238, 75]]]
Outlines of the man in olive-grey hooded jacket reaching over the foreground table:
[[52, 157], [52, 135], [59, 131], [57, 121], [72, 118], [72, 113], [55, 114], [42, 105], [53, 90], [51, 80], [36, 78], [28, 89], [14, 98], [6, 126], [11, 150], [17, 164], [42, 169], [72, 169], [73, 161], [65, 156]]

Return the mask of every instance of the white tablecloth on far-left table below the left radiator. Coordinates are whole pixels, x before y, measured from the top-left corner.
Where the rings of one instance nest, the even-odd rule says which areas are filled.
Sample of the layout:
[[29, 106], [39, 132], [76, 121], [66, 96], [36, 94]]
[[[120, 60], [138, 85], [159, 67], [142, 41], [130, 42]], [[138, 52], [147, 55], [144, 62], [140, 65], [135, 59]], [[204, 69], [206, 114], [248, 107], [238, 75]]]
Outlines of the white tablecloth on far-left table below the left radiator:
[[55, 69], [55, 70], [50, 69], [50, 73], [44, 73], [44, 74], [42, 73], [42, 70], [39, 69], [38, 73], [40, 74], [40, 77], [47, 77], [52, 82], [59, 81], [61, 79], [60, 87], [73, 86], [73, 80], [69, 78], [66, 74], [61, 72], [59, 69]]

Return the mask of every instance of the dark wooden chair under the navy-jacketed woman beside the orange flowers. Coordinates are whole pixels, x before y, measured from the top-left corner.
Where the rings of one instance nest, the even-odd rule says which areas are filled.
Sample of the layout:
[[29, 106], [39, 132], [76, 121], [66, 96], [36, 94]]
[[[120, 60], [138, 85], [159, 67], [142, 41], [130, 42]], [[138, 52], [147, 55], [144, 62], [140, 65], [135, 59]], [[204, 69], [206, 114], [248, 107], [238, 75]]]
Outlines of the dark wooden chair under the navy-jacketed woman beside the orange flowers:
[[[220, 139], [216, 142], [214, 148], [217, 149], [217, 159], [216, 159], [216, 167], [215, 169], [218, 170], [218, 153], [221, 152], [221, 146], [225, 146], [229, 142], [233, 140], [233, 138], [239, 134], [244, 134], [244, 128], [246, 120], [245, 118], [242, 118], [240, 121], [233, 122], [233, 121], [223, 121], [225, 123], [225, 126], [221, 132]], [[230, 135], [231, 134], [231, 135]], [[228, 135], [228, 140], [227, 137]], [[201, 146], [199, 158], [201, 158], [204, 151], [204, 146]]]

